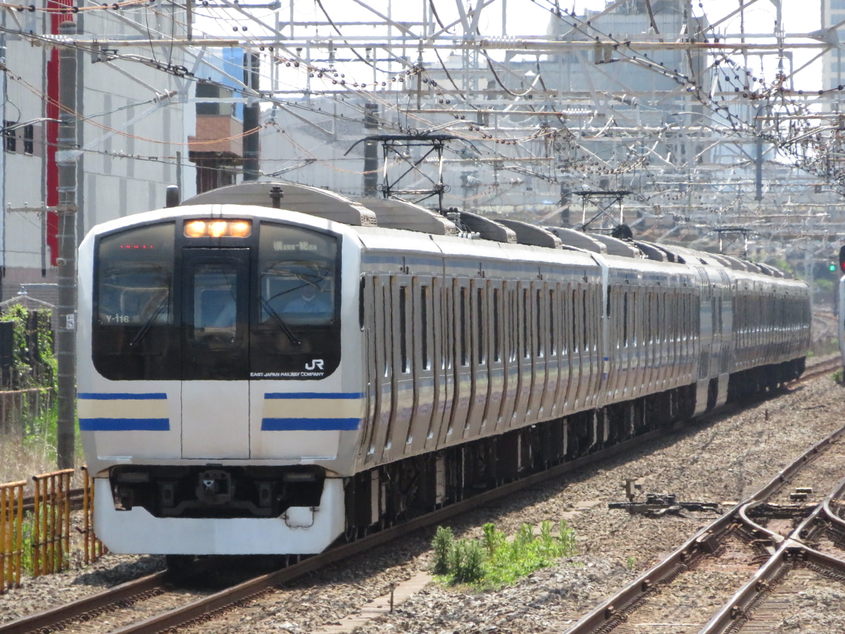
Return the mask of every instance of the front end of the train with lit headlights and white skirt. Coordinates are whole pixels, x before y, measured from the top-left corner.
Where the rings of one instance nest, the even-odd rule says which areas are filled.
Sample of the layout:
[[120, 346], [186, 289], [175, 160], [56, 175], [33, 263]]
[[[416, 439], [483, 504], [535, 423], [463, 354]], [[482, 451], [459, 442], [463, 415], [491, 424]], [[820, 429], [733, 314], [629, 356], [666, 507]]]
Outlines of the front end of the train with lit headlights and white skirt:
[[248, 206], [90, 232], [79, 429], [109, 549], [311, 554], [343, 533], [364, 411], [354, 347], [341, 359], [360, 337], [359, 260], [340, 225]]

